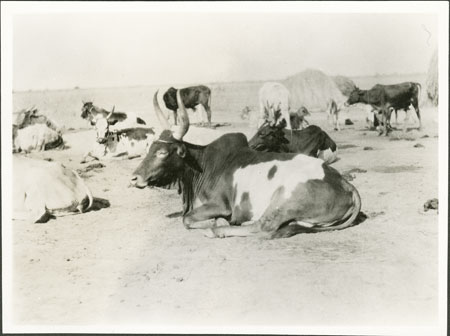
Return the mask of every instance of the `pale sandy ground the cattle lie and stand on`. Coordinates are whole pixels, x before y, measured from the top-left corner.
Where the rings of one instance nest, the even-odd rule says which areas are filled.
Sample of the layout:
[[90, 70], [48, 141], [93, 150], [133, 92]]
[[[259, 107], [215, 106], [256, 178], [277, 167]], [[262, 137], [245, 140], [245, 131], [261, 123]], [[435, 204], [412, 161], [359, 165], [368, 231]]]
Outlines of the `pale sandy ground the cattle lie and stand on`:
[[[46, 224], [13, 221], [13, 313], [17, 325], [432, 325], [438, 313], [437, 109], [409, 140], [378, 137], [365, 115], [334, 132], [333, 166], [354, 172], [368, 216], [342, 231], [289, 239], [209, 239], [187, 231], [176, 190], [129, 188], [141, 159], [104, 162], [84, 175], [111, 206]], [[402, 120], [402, 118], [399, 118]], [[236, 116], [220, 133], [252, 131]], [[428, 135], [427, 138], [422, 136]], [[74, 169], [92, 131], [70, 147], [34, 153]], [[423, 147], [414, 147], [420, 143]], [[364, 150], [372, 147], [372, 150]], [[365, 171], [365, 172], [363, 172]]]

